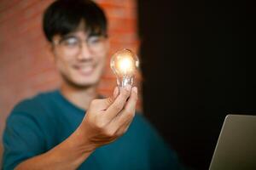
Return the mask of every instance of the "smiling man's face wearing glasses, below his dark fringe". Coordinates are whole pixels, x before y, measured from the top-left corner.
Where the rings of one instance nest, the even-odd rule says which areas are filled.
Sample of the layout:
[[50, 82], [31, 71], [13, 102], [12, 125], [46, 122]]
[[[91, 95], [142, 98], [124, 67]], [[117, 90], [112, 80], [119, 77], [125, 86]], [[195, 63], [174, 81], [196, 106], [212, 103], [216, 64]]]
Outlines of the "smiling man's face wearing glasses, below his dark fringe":
[[80, 88], [96, 86], [108, 54], [108, 39], [75, 31], [53, 38], [55, 65], [64, 82]]

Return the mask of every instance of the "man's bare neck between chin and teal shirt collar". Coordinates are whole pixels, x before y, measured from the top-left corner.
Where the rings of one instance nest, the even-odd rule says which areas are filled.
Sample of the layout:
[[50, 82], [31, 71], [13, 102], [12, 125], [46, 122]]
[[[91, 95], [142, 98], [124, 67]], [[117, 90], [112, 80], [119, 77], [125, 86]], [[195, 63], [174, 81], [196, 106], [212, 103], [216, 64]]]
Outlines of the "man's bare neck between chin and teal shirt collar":
[[75, 88], [65, 83], [61, 85], [61, 94], [65, 96], [68, 101], [73, 103], [73, 105], [84, 110], [88, 109], [90, 101], [95, 99], [97, 96], [95, 86], [88, 88]]

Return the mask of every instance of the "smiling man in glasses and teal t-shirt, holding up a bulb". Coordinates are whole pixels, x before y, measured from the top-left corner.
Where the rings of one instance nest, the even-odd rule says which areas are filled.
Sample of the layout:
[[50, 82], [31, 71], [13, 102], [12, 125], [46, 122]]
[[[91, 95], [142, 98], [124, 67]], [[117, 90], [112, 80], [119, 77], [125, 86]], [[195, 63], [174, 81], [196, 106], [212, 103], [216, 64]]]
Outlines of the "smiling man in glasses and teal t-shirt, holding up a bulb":
[[63, 81], [60, 89], [15, 106], [3, 134], [3, 169], [180, 168], [172, 150], [135, 114], [136, 87], [97, 99], [107, 25], [91, 1], [59, 0], [46, 9], [44, 33]]

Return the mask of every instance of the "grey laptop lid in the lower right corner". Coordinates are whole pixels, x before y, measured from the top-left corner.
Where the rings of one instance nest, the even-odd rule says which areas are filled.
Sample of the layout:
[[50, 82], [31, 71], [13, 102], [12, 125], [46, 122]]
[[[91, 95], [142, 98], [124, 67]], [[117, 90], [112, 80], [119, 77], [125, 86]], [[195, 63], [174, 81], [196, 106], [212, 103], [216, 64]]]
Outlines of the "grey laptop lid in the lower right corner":
[[225, 117], [209, 170], [256, 170], [256, 116]]

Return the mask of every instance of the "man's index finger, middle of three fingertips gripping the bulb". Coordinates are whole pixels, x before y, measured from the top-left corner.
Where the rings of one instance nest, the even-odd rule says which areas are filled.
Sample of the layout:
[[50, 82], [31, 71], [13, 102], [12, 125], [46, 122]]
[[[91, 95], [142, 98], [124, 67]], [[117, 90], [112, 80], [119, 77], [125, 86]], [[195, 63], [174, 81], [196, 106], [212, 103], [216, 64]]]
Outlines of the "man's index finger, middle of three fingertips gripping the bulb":
[[110, 121], [112, 121], [113, 117], [119, 114], [119, 111], [123, 110], [125, 107], [127, 99], [131, 94], [131, 86], [127, 85], [125, 88], [120, 88], [119, 95], [113, 101], [113, 104], [110, 105], [106, 111], [106, 116]]

